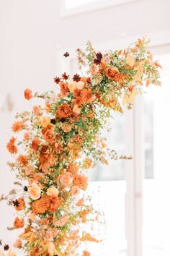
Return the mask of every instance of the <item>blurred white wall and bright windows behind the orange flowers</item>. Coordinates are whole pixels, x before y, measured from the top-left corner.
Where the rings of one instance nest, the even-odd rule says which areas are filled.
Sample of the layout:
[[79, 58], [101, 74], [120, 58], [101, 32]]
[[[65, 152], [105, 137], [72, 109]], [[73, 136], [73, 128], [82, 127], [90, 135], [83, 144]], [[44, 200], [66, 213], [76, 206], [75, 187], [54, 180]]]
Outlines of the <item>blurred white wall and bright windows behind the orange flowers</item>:
[[[29, 109], [25, 88], [53, 89], [53, 77], [77, 72], [77, 47], [91, 40], [99, 51], [127, 47], [148, 35], [161, 63], [162, 88], [148, 88], [133, 111], [114, 115], [108, 145], [132, 161], [110, 161], [89, 171], [107, 229], [91, 256], [170, 255], [170, 1], [0, 0], [0, 193], [12, 187], [6, 142], [14, 113]], [[70, 57], [63, 59], [68, 51]], [[98, 195], [98, 194], [96, 194]], [[0, 239], [12, 242], [13, 212], [0, 205]], [[22, 255], [22, 253], [20, 254]]]

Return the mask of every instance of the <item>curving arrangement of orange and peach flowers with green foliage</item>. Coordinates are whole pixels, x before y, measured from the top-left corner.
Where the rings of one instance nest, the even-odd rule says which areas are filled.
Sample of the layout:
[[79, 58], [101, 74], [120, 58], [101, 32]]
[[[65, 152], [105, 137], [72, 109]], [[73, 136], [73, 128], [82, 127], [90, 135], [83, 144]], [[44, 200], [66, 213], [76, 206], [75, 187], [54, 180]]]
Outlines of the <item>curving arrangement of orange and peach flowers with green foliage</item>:
[[[114, 111], [132, 108], [143, 86], [161, 85], [158, 61], [146, 49], [146, 38], [120, 51], [97, 52], [88, 42], [77, 49], [81, 71], [64, 72], [54, 82], [60, 92], [24, 90], [24, 98], [42, 98], [42, 106], [16, 115], [7, 144], [14, 161], [15, 188], [1, 195], [16, 211], [9, 230], [22, 229], [13, 245], [3, 244], [0, 255], [89, 256], [86, 242], [100, 242], [86, 226], [100, 222], [100, 213], [86, 195], [87, 170], [97, 161], [118, 156], [106, 147], [100, 132]], [[64, 54], [68, 57], [69, 54]], [[17, 139], [17, 134], [19, 138]], [[84, 249], [81, 244], [85, 243]], [[6, 252], [4, 252], [6, 251]]]

